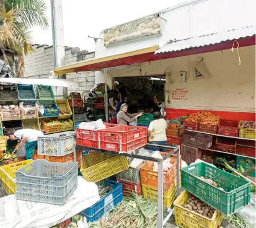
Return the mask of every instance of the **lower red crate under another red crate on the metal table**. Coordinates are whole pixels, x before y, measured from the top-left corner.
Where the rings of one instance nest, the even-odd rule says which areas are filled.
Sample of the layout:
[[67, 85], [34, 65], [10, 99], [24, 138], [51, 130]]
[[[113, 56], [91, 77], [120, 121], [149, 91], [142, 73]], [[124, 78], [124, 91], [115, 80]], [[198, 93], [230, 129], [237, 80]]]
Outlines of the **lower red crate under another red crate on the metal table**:
[[99, 149], [105, 149], [106, 151], [115, 151], [115, 152], [130, 152], [134, 149], [138, 149], [141, 146], [145, 146], [147, 144], [147, 138], [139, 138], [129, 143], [112, 143], [99, 141]]

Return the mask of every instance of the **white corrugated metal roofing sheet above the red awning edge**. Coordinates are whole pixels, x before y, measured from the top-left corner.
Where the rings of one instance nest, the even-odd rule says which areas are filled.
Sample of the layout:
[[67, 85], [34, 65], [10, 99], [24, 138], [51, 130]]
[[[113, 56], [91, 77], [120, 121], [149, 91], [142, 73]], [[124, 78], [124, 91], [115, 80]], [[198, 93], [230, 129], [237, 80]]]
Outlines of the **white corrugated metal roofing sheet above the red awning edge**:
[[214, 45], [215, 43], [225, 42], [227, 40], [252, 37], [256, 33], [255, 28], [255, 25], [252, 25], [249, 27], [235, 28], [223, 32], [202, 35], [200, 37], [191, 37], [183, 40], [170, 40], [168, 43], [166, 43], [166, 45], [162, 46], [162, 48], [159, 48], [155, 54], [199, 48], [201, 46], [208, 46]]

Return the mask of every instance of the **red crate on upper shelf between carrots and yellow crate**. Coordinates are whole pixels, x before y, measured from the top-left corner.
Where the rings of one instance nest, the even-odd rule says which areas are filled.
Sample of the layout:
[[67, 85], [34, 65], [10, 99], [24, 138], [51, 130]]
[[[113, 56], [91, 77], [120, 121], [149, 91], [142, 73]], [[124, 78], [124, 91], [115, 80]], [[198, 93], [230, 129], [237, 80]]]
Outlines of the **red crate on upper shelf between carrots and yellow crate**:
[[238, 137], [239, 125], [236, 120], [219, 120], [218, 134]]

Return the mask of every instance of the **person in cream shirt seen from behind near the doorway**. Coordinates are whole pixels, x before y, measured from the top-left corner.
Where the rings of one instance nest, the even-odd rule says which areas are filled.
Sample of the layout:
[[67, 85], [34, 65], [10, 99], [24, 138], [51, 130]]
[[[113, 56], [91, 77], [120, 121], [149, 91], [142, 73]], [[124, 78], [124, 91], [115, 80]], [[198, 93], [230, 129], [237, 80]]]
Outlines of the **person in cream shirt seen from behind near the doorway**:
[[[148, 128], [149, 141], [151, 143], [167, 143], [166, 120], [161, 118], [160, 112], [154, 112], [153, 116], [154, 120], [151, 121]], [[152, 147], [151, 150], [166, 152], [166, 149], [162, 149], [159, 147]]]

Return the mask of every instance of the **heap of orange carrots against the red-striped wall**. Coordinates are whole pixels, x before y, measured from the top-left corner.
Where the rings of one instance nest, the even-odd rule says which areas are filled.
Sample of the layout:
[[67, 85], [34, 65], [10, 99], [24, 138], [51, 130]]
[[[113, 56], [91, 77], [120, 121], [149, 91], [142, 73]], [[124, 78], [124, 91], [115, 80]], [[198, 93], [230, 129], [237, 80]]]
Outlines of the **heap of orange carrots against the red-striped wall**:
[[207, 125], [218, 125], [221, 117], [214, 115], [210, 112], [197, 112], [190, 114], [186, 121], [193, 123], [203, 123]]

